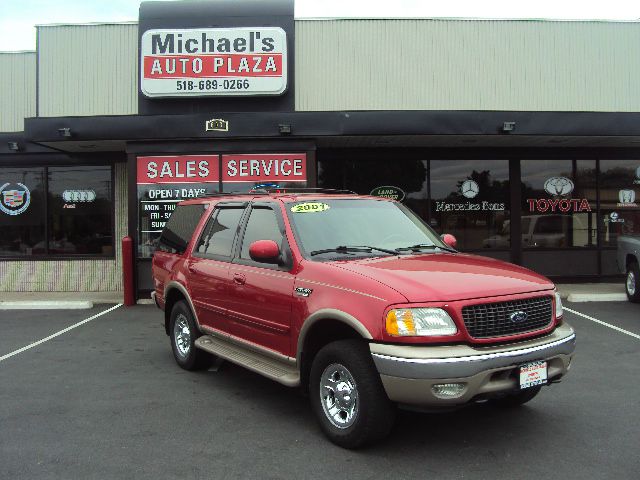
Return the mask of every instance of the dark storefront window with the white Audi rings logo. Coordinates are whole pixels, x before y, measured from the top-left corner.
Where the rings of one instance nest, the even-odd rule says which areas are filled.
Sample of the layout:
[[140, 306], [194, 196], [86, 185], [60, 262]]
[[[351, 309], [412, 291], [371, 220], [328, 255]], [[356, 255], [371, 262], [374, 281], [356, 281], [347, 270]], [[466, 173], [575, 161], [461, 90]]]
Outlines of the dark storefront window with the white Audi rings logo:
[[49, 254], [113, 255], [111, 167], [50, 167]]

